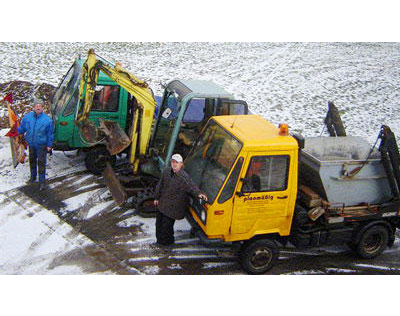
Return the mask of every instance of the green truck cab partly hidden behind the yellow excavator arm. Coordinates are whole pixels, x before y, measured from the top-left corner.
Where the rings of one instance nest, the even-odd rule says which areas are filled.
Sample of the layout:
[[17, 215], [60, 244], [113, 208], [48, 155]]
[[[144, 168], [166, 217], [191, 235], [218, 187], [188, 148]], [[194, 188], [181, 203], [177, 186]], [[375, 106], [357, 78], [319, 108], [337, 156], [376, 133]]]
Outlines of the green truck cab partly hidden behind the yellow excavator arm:
[[[105, 123], [107, 132], [112, 135], [127, 128], [127, 108], [129, 93], [120, 85], [100, 72], [94, 88], [93, 103], [87, 120], [76, 124], [74, 121], [83, 115], [84, 102], [79, 98], [80, 81], [84, 59], [77, 59], [62, 78], [51, 102], [51, 116], [55, 130], [55, 150], [90, 150], [104, 138], [98, 129]], [[114, 123], [113, 123], [114, 122]], [[104, 123], [103, 123], [104, 124]], [[116, 138], [117, 136], [114, 136]], [[123, 138], [124, 139], [124, 138]], [[124, 139], [125, 140], [125, 139]], [[120, 149], [112, 148], [117, 152]]]

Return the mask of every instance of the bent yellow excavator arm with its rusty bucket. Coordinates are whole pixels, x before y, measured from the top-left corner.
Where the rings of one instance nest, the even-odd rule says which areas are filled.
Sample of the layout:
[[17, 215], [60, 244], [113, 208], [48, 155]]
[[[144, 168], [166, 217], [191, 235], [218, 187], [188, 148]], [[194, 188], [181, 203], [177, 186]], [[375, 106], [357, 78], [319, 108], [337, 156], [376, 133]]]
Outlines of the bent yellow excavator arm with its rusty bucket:
[[[99, 72], [102, 71], [118, 85], [123, 87], [128, 93], [135, 97], [137, 106], [133, 109], [133, 119], [130, 123], [129, 135], [119, 128], [116, 132], [116, 125], [110, 121], [100, 121], [99, 127], [106, 138], [107, 148], [112, 155], [115, 155], [131, 144], [129, 149], [129, 162], [133, 165], [134, 173], [139, 167], [140, 158], [146, 154], [150, 142], [150, 135], [153, 123], [156, 101], [152, 90], [148, 84], [136, 76], [124, 70], [120, 64], [111, 67], [96, 58], [94, 50], [89, 50], [88, 57], [82, 68], [81, 82], [79, 86], [79, 100], [83, 100], [83, 110], [78, 111], [76, 124], [85, 129], [90, 125], [88, 121], [89, 112], [93, 106], [93, 97], [98, 81]], [[97, 133], [97, 131], [96, 131]], [[126, 137], [122, 145], [118, 143]]]

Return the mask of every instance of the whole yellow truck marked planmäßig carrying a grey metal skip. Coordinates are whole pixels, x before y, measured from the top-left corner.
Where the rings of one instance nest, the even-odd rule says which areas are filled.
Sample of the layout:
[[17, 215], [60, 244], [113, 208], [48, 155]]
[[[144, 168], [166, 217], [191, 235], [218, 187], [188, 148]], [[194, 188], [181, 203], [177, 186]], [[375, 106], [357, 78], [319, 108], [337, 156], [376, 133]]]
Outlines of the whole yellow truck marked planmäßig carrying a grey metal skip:
[[190, 198], [192, 231], [231, 243], [251, 274], [268, 271], [287, 243], [375, 257], [400, 227], [399, 152], [387, 126], [378, 139], [376, 150], [358, 137], [291, 135], [258, 115], [212, 117], [185, 160], [209, 198]]

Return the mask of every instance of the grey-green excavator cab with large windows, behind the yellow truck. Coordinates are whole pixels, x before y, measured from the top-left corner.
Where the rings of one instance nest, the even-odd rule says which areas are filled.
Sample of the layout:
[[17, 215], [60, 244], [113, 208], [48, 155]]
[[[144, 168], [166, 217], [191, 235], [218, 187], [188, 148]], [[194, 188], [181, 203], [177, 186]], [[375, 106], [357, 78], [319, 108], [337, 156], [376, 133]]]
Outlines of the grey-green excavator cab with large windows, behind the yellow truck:
[[160, 169], [174, 153], [186, 157], [200, 132], [215, 115], [248, 114], [245, 101], [213, 82], [174, 80], [165, 87], [161, 106], [150, 141], [160, 162]]

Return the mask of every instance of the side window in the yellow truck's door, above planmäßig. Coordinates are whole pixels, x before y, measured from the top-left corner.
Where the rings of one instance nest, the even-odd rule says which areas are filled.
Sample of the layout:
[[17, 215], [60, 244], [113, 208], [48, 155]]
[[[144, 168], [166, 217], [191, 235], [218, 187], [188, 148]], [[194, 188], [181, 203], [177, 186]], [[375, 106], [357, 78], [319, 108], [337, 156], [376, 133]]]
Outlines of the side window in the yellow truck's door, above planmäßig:
[[286, 190], [289, 161], [290, 157], [288, 155], [252, 157], [242, 192]]

